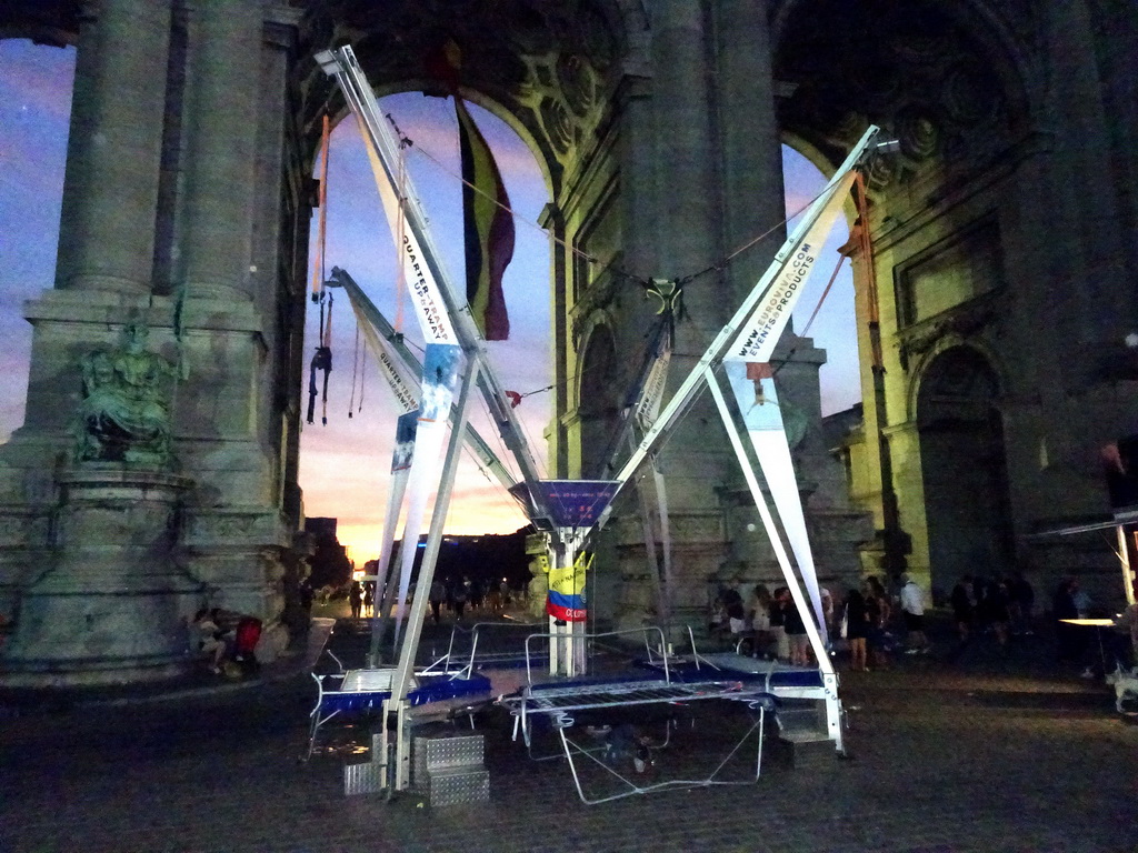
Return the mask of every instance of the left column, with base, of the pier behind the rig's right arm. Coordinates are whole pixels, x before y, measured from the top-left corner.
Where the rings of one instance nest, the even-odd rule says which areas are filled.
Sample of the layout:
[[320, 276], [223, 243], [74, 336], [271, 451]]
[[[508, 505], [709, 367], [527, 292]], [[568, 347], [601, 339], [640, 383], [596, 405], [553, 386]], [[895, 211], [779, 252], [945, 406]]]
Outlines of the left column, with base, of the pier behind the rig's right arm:
[[[712, 43], [704, 3], [661, 0], [651, 9], [646, 52], [651, 101], [629, 91], [624, 107], [621, 194], [628, 216], [626, 242], [634, 264], [653, 278], [681, 279], [721, 257], [719, 152], [714, 136]], [[649, 113], [650, 108], [650, 113]], [[626, 176], [624, 171], [628, 169]], [[632, 179], [626, 187], [626, 179]], [[634, 267], [635, 268], [635, 267]], [[640, 271], [638, 271], [640, 272]], [[702, 275], [685, 290], [686, 317], [676, 326], [668, 391], [694, 367], [711, 337], [729, 316], [721, 278]], [[646, 309], [645, 309], [646, 314]], [[674, 575], [673, 624], [706, 621], [702, 588], [726, 553], [715, 489], [728, 475], [729, 450], [704, 398], [677, 425], [662, 454], [667, 477]], [[621, 498], [615, 524], [621, 586], [615, 622], [621, 628], [655, 623], [651, 563], [633, 489]]]

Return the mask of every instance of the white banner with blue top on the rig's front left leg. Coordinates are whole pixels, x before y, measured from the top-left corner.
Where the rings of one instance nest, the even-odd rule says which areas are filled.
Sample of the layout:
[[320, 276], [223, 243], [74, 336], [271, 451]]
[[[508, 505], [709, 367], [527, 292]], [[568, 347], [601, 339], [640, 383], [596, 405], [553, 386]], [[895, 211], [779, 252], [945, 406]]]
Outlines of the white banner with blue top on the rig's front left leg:
[[[423, 529], [427, 502], [438, 485], [439, 462], [446, 440], [446, 424], [451, 406], [459, 387], [459, 368], [462, 348], [452, 343], [428, 343], [423, 357], [422, 403], [415, 437], [412, 446], [414, 457], [407, 479], [407, 517], [403, 525], [403, 547], [399, 552], [398, 616], [395, 622], [395, 640], [399, 630], [411, 586], [411, 570], [414, 565], [419, 536]], [[399, 452], [398, 446], [396, 453]]]

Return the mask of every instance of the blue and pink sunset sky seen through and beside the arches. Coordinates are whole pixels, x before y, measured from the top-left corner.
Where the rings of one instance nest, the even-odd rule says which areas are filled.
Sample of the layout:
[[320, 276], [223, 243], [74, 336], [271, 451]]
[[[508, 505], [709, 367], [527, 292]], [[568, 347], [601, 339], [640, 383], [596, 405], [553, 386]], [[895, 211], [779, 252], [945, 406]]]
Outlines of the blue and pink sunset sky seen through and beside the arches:
[[[0, 441], [24, 420], [31, 326], [23, 320], [22, 305], [52, 287], [55, 275], [74, 56], [73, 49], [0, 41]], [[395, 116], [414, 143], [407, 156], [409, 172], [427, 208], [444, 265], [457, 281], [462, 274], [462, 214], [453, 103], [404, 93], [386, 98], [384, 109]], [[530, 392], [552, 382], [550, 245], [535, 224], [549, 193], [522, 140], [489, 113], [478, 107], [471, 107], [471, 113], [494, 149], [517, 213], [517, 248], [504, 285], [511, 338], [488, 347], [503, 387], [529, 395], [517, 414], [544, 464], [543, 430], [552, 414], [552, 396]], [[797, 210], [820, 189], [823, 177], [789, 149], [784, 149], [784, 166], [787, 209]], [[391, 235], [354, 122], [343, 122], [333, 131], [328, 193], [328, 268], [347, 270], [396, 322]], [[313, 234], [315, 222], [314, 217]], [[839, 230], [842, 233], [831, 238], [830, 248], [844, 241], [844, 229]], [[813, 313], [836, 263], [835, 251], [823, 255], [795, 312], [795, 329]], [[675, 273], [661, 274], [665, 272]], [[339, 290], [332, 295], [328, 424], [320, 423], [318, 401], [316, 423], [306, 424], [302, 436], [300, 485], [305, 513], [337, 517], [340, 541], [349, 547], [353, 558], [362, 561], [378, 550], [397, 408], [373, 364], [364, 364], [362, 339], [356, 350], [355, 320], [347, 298]], [[410, 341], [419, 340], [412, 313], [404, 313], [403, 330]], [[318, 324], [319, 312], [310, 303], [302, 409], [307, 404], [307, 358], [316, 346]], [[823, 411], [828, 414], [847, 408], [860, 398], [853, 288], [848, 270], [834, 283], [809, 333], [830, 355], [822, 370]], [[483, 429], [481, 412], [481, 405], [476, 405], [472, 420], [497, 448], [494, 431]], [[448, 532], [504, 533], [525, 523], [517, 504], [468, 456], [459, 473]]]

